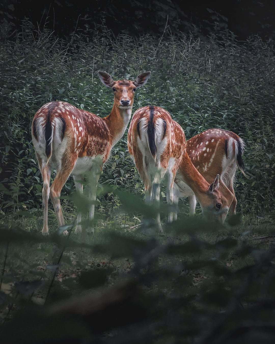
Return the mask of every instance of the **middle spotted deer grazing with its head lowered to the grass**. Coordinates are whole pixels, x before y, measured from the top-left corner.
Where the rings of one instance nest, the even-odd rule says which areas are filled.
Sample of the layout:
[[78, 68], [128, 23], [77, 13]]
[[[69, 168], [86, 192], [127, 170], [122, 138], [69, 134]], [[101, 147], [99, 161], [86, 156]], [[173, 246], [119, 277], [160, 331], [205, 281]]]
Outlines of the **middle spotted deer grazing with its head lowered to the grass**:
[[[195, 193], [203, 214], [212, 220], [222, 221], [221, 214], [228, 211], [233, 194], [219, 189], [219, 174], [209, 184], [192, 164], [187, 151], [185, 134], [169, 112], [158, 106], [146, 106], [135, 111], [129, 131], [128, 150], [144, 183], [145, 202], [159, 203], [160, 183], [167, 175], [166, 199], [169, 204], [168, 222], [175, 216], [173, 211], [173, 186], [177, 170], [182, 179]], [[160, 215], [156, 225], [163, 231]]]

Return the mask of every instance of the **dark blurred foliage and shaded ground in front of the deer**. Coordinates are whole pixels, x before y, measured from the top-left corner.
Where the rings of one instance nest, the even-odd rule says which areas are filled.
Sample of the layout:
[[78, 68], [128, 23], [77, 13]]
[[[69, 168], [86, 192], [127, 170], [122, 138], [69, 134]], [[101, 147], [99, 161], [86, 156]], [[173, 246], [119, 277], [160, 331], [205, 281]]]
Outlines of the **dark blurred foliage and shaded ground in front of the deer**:
[[82, 243], [18, 223], [0, 228], [2, 343], [273, 341], [275, 251], [245, 226], [182, 218], [166, 235], [116, 225]]

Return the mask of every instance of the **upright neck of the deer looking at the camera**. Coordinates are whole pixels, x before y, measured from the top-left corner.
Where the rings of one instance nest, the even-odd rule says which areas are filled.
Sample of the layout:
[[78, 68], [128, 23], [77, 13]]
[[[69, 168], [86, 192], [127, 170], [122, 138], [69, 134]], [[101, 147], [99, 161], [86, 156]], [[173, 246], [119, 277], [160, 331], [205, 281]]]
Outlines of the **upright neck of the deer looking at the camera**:
[[130, 121], [132, 107], [128, 109], [120, 109], [115, 104], [109, 116], [102, 118], [110, 131], [110, 143], [113, 147], [123, 136], [126, 127]]

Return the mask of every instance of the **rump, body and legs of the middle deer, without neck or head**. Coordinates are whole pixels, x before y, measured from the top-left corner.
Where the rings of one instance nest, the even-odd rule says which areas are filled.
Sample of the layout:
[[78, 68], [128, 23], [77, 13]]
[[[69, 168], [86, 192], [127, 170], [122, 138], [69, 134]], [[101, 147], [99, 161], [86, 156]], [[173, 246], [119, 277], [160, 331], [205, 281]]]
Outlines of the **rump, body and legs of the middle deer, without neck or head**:
[[[173, 184], [181, 161], [185, 135], [169, 112], [158, 106], [146, 106], [135, 111], [129, 131], [128, 149], [145, 187], [145, 202], [159, 203], [160, 184], [167, 176], [167, 203], [173, 203]], [[169, 221], [173, 213], [170, 207]], [[157, 227], [162, 232], [159, 213]]]

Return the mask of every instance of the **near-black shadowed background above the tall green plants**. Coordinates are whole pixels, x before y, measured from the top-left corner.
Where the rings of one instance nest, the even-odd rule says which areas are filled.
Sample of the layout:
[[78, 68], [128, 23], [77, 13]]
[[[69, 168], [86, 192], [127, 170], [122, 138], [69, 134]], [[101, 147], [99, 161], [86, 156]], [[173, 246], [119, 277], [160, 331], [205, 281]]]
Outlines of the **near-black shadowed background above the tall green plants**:
[[275, 37], [274, 14], [273, 0], [3, 0], [0, 4], [1, 31], [7, 39], [16, 36], [24, 18], [40, 28], [46, 23], [59, 37], [85, 25], [92, 35], [102, 24], [115, 36], [121, 32], [161, 36], [168, 16], [168, 32], [175, 35], [189, 31], [207, 35], [218, 23], [240, 41], [256, 34], [268, 40]]

